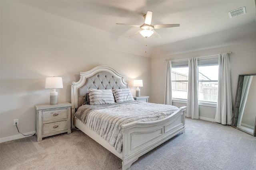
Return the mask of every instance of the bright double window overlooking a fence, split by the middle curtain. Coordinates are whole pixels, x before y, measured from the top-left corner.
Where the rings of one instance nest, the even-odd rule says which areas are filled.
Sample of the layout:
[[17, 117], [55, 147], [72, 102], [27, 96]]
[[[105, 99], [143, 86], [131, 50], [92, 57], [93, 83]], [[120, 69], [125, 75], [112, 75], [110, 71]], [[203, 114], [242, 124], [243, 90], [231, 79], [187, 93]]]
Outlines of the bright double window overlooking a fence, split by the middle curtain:
[[[188, 99], [188, 62], [172, 63], [172, 98]], [[198, 59], [198, 100], [218, 100], [218, 59]]]

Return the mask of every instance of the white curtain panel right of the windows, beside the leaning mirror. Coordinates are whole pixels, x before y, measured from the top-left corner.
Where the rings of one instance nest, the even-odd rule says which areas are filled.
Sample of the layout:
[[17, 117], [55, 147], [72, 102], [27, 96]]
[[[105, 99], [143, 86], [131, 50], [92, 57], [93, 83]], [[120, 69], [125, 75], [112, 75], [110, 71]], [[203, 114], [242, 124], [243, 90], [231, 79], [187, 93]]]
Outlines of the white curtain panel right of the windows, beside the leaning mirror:
[[232, 98], [228, 53], [219, 54], [218, 101], [215, 121], [223, 125], [232, 123]]

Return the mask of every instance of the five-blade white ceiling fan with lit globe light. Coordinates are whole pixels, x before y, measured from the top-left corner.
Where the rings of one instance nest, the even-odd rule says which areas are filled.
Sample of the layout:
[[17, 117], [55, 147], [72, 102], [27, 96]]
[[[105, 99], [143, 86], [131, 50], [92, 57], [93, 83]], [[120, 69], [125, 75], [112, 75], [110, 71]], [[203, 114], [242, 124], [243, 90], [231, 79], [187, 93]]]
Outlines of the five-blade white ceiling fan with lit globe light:
[[127, 23], [116, 23], [117, 25], [127, 25], [132, 27], [140, 27], [140, 30], [138, 30], [136, 33], [130, 35], [130, 37], [133, 37], [134, 35], [140, 33], [143, 37], [150, 37], [152, 34], [157, 37], [161, 38], [161, 36], [154, 30], [154, 29], [160, 29], [160, 28], [169, 28], [169, 27], [179, 27], [180, 24], [160, 24], [160, 25], [151, 25], [152, 21], [152, 11], [148, 11], [147, 14], [144, 15], [145, 22], [142, 25], [133, 25], [133, 24], [127, 24]]

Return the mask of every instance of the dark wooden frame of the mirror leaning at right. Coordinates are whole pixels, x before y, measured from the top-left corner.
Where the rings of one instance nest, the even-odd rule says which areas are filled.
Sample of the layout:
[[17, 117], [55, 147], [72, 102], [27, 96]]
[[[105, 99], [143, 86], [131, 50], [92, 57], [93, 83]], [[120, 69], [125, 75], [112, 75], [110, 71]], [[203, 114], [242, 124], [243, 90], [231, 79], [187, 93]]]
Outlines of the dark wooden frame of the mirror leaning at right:
[[[237, 88], [236, 88], [236, 99], [234, 103], [234, 111], [232, 115], [232, 124], [231, 126], [238, 129], [237, 126], [237, 121], [238, 121], [238, 113], [240, 109], [240, 101], [241, 101], [241, 95], [242, 95], [242, 88], [243, 88], [243, 83], [244, 83], [244, 76], [256, 76], [256, 73], [254, 74], [239, 74], [238, 76], [238, 83], [237, 83]], [[253, 136], [256, 137], [256, 119], [254, 123], [254, 131], [253, 131]]]

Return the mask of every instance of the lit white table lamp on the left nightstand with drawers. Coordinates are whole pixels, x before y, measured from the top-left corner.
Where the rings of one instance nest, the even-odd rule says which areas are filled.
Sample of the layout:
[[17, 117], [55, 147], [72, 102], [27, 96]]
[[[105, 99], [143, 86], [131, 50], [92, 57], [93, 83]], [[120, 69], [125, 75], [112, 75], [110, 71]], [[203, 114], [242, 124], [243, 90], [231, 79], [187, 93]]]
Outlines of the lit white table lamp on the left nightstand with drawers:
[[45, 88], [52, 88], [50, 104], [58, 104], [58, 92], [55, 88], [63, 88], [62, 77], [46, 77]]

